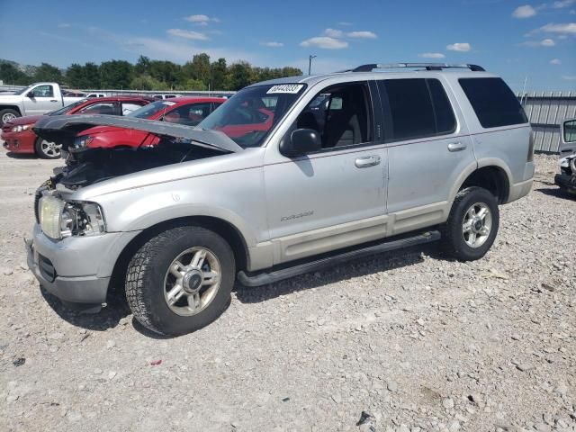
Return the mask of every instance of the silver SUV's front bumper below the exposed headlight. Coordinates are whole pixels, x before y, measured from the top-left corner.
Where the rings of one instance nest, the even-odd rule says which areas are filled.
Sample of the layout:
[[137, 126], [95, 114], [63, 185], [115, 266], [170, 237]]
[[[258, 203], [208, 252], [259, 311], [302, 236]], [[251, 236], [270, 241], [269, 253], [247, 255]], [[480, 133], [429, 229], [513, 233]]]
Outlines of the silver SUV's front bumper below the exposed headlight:
[[60, 300], [103, 303], [117, 258], [138, 234], [112, 232], [55, 241], [36, 224], [33, 237], [26, 241], [28, 267], [40, 285]]

